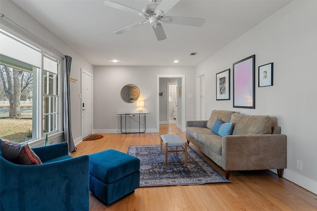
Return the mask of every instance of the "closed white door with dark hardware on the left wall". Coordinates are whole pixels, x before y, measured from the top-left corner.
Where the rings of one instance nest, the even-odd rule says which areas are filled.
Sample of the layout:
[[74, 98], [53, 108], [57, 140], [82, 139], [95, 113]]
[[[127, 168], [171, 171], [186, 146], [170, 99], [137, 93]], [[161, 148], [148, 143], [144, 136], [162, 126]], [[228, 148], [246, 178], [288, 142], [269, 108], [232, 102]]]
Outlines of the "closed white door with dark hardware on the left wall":
[[81, 135], [85, 138], [93, 131], [93, 79], [84, 70], [81, 73], [81, 109]]

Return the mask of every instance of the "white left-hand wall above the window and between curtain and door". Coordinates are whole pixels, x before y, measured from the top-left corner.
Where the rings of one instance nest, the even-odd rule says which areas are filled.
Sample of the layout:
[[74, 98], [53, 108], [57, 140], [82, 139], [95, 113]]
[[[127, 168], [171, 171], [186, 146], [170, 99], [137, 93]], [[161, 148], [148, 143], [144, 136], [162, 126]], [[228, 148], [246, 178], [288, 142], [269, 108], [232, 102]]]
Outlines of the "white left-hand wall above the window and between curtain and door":
[[[82, 140], [81, 101], [79, 99], [79, 93], [81, 92], [81, 68], [87, 70], [90, 73], [93, 73], [93, 66], [81, 55], [79, 55], [76, 51], [71, 49], [66, 43], [62, 42], [59, 38], [57, 38], [47, 28], [40, 25], [38, 22], [36, 22], [34, 19], [28, 16], [25, 12], [23, 12], [21, 9], [16, 7], [11, 1], [1, 0], [0, 13], [4, 14], [7, 18], [17, 23], [24, 29], [28, 30], [41, 40], [49, 43], [64, 55], [69, 55], [72, 57], [70, 76], [78, 80], [76, 83], [70, 83], [72, 134], [75, 144], [77, 144]], [[1, 25], [2, 24], [7, 25], [5, 20], [1, 18]], [[14, 27], [11, 27], [10, 25], [8, 25], [8, 27], [12, 28], [12, 30], [20, 34], [23, 34], [21, 31], [14, 29]], [[36, 40], [33, 41], [40, 43]], [[52, 49], [49, 50], [52, 51]]]

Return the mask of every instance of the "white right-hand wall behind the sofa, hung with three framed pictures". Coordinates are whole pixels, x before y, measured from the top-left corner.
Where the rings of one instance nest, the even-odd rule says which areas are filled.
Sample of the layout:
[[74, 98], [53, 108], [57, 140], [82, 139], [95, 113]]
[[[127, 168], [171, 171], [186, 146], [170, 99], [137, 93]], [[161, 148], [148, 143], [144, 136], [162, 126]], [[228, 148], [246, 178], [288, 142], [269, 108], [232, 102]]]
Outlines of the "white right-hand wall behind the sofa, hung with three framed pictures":
[[[277, 118], [287, 135], [284, 177], [317, 193], [317, 1], [293, 1], [197, 66], [206, 76], [206, 119], [211, 110]], [[232, 107], [232, 64], [256, 54], [256, 109]], [[258, 67], [274, 63], [273, 86], [258, 87]], [[215, 74], [231, 69], [231, 100], [215, 100]], [[199, 90], [199, 84], [196, 85]], [[197, 99], [197, 103], [198, 103]], [[297, 160], [303, 170], [297, 169]]]

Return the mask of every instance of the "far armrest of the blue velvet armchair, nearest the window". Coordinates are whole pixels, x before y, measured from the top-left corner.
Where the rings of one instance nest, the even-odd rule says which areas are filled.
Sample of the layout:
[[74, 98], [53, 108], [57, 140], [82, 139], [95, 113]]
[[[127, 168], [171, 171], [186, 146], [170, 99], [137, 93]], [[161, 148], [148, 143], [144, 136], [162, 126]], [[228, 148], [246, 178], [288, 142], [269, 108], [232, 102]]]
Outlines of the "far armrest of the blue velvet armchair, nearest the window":
[[49, 146], [32, 148], [42, 162], [52, 160], [64, 155], [68, 155], [67, 142], [57, 143]]

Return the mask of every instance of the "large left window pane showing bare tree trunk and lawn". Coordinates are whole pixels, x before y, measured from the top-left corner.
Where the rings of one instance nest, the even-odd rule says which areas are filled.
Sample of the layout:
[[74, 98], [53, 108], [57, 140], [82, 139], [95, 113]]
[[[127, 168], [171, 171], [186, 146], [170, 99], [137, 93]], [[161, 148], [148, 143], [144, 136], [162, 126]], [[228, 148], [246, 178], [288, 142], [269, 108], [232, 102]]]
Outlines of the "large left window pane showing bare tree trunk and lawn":
[[38, 68], [0, 55], [0, 137], [16, 143], [36, 137]]

